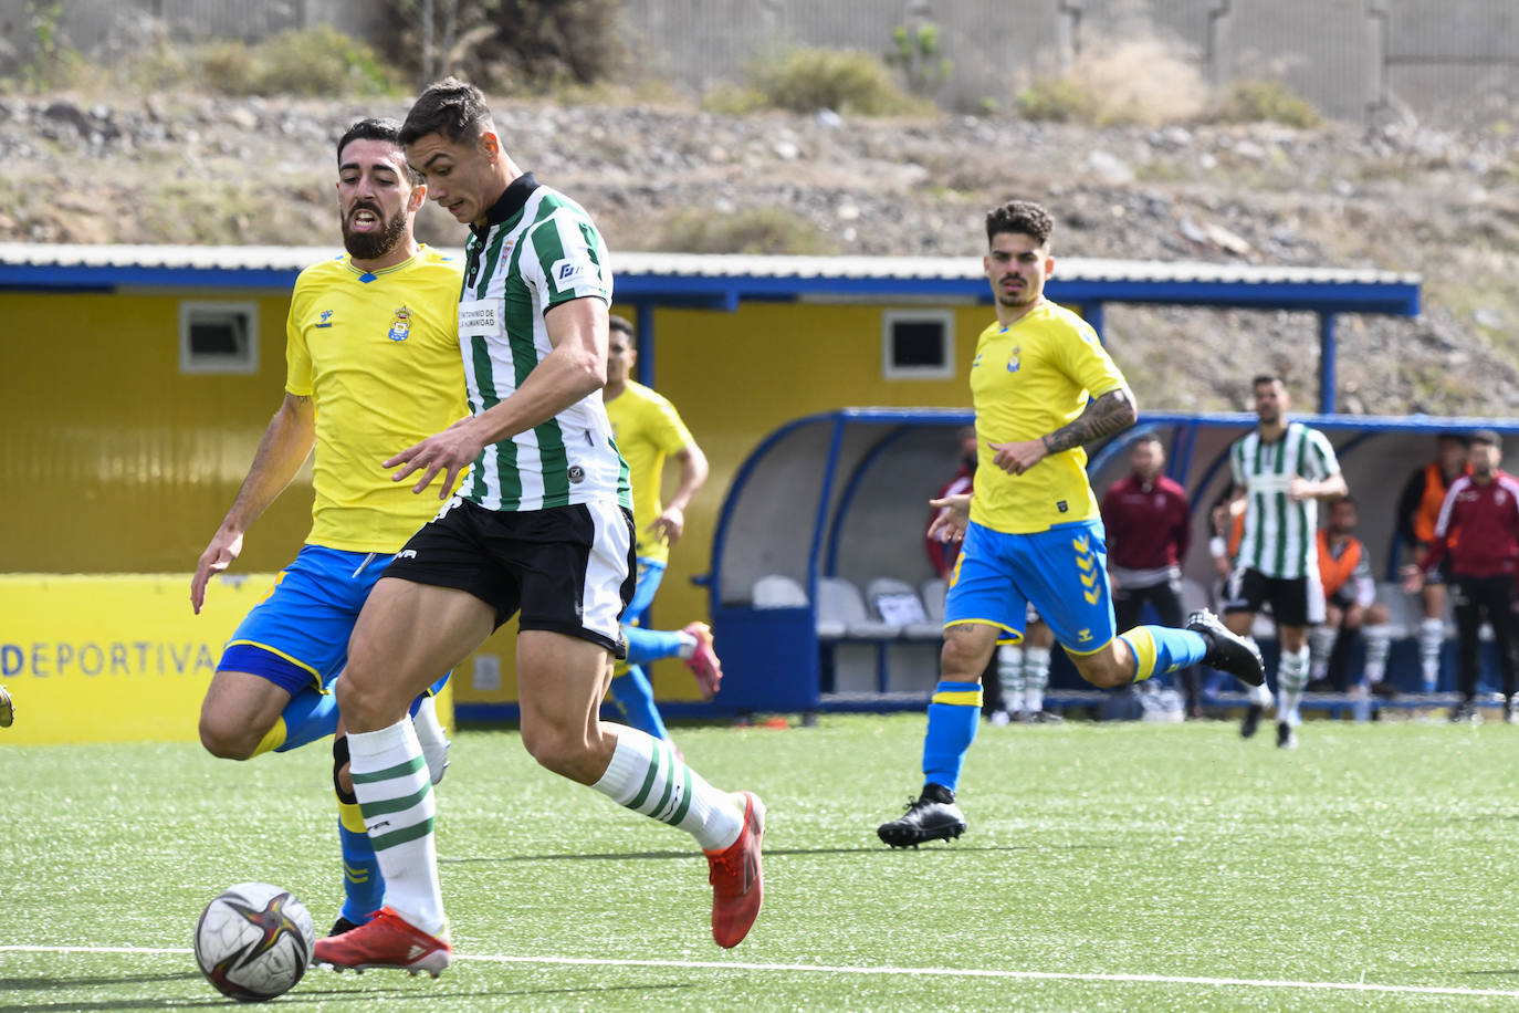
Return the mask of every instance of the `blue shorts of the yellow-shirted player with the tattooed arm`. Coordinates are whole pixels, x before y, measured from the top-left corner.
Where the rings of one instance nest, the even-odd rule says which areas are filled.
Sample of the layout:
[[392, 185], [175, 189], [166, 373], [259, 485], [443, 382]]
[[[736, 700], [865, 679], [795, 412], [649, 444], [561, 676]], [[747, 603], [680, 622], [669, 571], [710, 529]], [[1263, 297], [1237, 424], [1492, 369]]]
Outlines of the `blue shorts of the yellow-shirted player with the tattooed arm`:
[[1107, 586], [1107, 542], [1098, 519], [1031, 535], [1003, 535], [972, 522], [949, 574], [945, 626], [987, 623], [998, 642], [1024, 638], [1028, 606], [1072, 655], [1103, 650], [1116, 635]]

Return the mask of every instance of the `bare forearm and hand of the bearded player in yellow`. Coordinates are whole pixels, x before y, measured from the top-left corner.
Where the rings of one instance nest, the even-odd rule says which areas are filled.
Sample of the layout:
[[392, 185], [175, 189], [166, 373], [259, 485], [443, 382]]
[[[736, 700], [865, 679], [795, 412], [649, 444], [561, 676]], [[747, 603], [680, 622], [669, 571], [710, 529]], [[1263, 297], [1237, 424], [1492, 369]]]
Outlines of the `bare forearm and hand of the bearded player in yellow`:
[[222, 525], [211, 536], [211, 544], [201, 553], [190, 579], [190, 606], [196, 615], [205, 604], [205, 586], [211, 574], [222, 573], [243, 551], [243, 532], [258, 519], [270, 503], [290, 484], [311, 447], [316, 445], [316, 410], [310, 396], [286, 393], [279, 410], [269, 419], [254, 463], [243, 478], [237, 498], [222, 518]]

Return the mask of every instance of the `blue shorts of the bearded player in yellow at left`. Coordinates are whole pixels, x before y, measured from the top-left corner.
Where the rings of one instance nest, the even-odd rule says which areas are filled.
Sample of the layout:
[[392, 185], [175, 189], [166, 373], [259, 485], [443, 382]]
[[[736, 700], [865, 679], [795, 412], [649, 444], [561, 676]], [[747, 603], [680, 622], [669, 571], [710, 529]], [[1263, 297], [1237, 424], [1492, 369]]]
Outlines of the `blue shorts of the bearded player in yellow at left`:
[[[290, 691], [327, 693], [348, 664], [358, 611], [393, 556], [302, 545], [226, 642], [217, 671], [246, 671]], [[448, 680], [444, 676], [433, 693]]]

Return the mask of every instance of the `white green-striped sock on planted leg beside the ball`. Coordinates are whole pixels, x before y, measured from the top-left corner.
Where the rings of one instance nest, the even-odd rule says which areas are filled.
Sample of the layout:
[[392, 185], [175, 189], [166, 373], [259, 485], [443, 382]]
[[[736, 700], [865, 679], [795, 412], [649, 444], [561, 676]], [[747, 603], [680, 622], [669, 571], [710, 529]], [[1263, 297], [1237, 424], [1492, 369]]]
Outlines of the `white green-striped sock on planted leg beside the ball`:
[[384, 873], [386, 904], [416, 928], [437, 936], [448, 925], [433, 838], [437, 800], [412, 718], [378, 732], [349, 732], [348, 770]]

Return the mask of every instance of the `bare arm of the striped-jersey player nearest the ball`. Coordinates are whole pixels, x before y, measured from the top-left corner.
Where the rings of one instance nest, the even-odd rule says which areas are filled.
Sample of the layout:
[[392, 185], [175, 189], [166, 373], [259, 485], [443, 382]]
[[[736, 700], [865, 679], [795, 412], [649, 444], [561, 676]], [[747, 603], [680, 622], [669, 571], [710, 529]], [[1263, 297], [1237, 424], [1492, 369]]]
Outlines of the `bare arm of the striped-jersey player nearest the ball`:
[[553, 351], [533, 366], [523, 384], [486, 412], [460, 419], [384, 460], [384, 468], [401, 468], [390, 475], [393, 481], [421, 471], [422, 477], [412, 486], [412, 492], [421, 492], [444, 472], [437, 498], [447, 500], [459, 475], [485, 447], [547, 422], [606, 386], [606, 302], [595, 298], [561, 302], [544, 314], [544, 325]]

